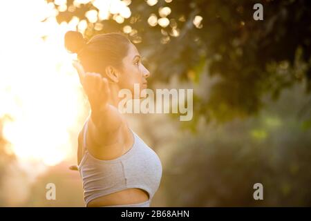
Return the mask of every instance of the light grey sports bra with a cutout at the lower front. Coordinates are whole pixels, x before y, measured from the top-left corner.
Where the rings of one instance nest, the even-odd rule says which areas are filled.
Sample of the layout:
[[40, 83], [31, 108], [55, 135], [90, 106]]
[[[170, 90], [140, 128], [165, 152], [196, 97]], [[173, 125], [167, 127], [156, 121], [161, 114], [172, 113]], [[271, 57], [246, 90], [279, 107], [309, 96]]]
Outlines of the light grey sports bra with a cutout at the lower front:
[[158, 155], [131, 130], [134, 143], [129, 151], [113, 160], [99, 160], [88, 152], [87, 129], [88, 121], [84, 124], [84, 155], [78, 166], [86, 206], [95, 198], [128, 188], [147, 191], [149, 200], [139, 204], [113, 206], [150, 206], [162, 177], [162, 164]]

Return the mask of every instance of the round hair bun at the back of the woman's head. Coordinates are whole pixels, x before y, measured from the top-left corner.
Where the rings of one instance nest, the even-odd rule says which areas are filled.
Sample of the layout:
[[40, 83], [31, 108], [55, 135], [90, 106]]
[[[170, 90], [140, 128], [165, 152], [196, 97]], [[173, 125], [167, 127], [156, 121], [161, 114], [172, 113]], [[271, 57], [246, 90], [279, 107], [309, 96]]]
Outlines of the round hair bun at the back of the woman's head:
[[86, 39], [83, 35], [77, 31], [68, 31], [65, 34], [65, 48], [73, 53], [79, 52], [84, 46], [86, 46]]

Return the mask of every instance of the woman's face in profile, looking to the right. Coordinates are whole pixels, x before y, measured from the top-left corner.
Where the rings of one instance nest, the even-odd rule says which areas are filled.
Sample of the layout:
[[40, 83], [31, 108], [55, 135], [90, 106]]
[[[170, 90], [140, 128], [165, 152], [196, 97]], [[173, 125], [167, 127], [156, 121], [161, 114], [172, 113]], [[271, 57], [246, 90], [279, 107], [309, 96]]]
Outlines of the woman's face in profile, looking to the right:
[[138, 84], [141, 93], [142, 89], [147, 88], [150, 73], [142, 64], [140, 53], [133, 44], [129, 44], [129, 50], [122, 62], [123, 71], [118, 82], [120, 89], [127, 88], [134, 95], [134, 84]]

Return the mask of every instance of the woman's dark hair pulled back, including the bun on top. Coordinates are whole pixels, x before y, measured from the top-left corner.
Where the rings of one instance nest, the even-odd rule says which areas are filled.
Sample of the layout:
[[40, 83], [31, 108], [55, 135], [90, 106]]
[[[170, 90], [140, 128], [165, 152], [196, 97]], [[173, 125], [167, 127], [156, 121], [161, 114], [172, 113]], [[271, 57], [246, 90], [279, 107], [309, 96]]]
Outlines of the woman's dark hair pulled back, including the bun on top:
[[95, 35], [88, 42], [80, 32], [68, 31], [65, 34], [65, 48], [77, 53], [84, 70], [102, 75], [108, 65], [122, 70], [122, 59], [127, 55], [130, 43], [119, 32]]

